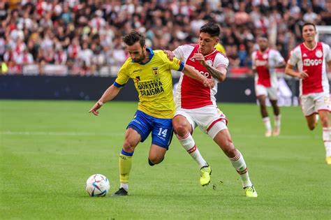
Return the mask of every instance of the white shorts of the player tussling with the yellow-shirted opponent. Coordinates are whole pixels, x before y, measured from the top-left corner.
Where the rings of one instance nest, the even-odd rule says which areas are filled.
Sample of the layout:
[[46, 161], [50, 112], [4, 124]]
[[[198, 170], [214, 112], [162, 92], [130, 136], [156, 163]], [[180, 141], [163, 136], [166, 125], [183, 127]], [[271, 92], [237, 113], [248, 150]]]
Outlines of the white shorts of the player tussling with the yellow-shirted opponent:
[[176, 115], [186, 117], [193, 130], [198, 126], [201, 131], [207, 133], [212, 139], [215, 138], [219, 131], [228, 129], [226, 126], [228, 124], [226, 116], [214, 105], [194, 109], [177, 108], [174, 117]]

